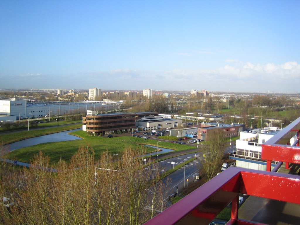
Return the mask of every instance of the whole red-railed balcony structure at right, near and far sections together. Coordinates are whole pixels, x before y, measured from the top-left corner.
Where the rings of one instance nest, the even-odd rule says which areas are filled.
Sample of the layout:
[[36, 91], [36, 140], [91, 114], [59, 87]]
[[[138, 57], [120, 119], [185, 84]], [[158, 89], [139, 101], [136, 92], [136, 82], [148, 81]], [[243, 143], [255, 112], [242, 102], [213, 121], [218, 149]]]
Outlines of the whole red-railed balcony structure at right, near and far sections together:
[[[299, 168], [300, 164], [299, 129], [300, 118], [262, 144], [262, 159], [267, 161], [268, 171], [229, 167], [145, 224], [207, 225], [231, 201], [231, 219], [227, 225], [299, 224], [300, 177], [289, 170]], [[295, 134], [297, 139], [290, 145]], [[272, 161], [279, 163], [271, 172]], [[277, 173], [278, 170], [286, 172]], [[247, 201], [251, 205], [245, 204], [239, 209], [239, 194], [250, 195]], [[260, 198], [267, 201], [259, 201]], [[239, 218], [239, 210], [240, 215], [249, 216]], [[253, 211], [254, 214], [250, 214]]]

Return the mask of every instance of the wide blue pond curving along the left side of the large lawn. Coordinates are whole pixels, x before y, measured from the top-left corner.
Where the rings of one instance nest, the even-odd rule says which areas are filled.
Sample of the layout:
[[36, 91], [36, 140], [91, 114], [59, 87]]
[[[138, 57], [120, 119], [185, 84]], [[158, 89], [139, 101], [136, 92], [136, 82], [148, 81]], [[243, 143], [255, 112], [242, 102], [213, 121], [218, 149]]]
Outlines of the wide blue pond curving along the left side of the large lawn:
[[40, 136], [40, 137], [32, 137], [32, 138], [28, 138], [28, 139], [25, 139], [22, 141], [17, 141], [15, 143], [11, 143], [8, 145], [8, 147], [10, 148], [10, 151], [13, 151], [16, 149], [21, 149], [21, 148], [25, 148], [28, 146], [33, 146], [33, 145], [47, 143], [47, 142], [79, 140], [82, 138], [76, 137], [76, 136], [68, 134], [68, 133], [74, 132], [74, 131], [80, 131], [80, 130], [82, 130], [82, 128], [78, 128], [78, 129], [74, 129], [74, 130], [70, 130], [70, 131], [63, 131], [63, 132], [59, 132], [59, 133], [55, 133], [55, 134], [47, 134], [47, 135]]

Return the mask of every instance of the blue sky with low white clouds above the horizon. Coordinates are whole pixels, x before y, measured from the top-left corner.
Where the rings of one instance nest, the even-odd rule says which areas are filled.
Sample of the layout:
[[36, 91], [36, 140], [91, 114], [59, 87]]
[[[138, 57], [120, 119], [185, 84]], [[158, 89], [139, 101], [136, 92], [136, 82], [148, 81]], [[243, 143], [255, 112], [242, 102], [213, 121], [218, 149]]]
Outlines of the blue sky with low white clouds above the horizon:
[[298, 0], [3, 0], [0, 88], [299, 92], [299, 9]]

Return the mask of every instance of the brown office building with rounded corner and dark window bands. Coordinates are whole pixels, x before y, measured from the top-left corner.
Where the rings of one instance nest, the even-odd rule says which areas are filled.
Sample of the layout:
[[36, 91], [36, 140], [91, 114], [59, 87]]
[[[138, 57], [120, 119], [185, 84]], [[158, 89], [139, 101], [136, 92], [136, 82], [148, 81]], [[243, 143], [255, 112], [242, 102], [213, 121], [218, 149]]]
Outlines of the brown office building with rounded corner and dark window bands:
[[88, 110], [82, 117], [82, 130], [96, 135], [117, 134], [132, 131], [136, 121], [145, 116], [158, 116], [155, 112], [107, 113], [98, 114], [97, 110]]

